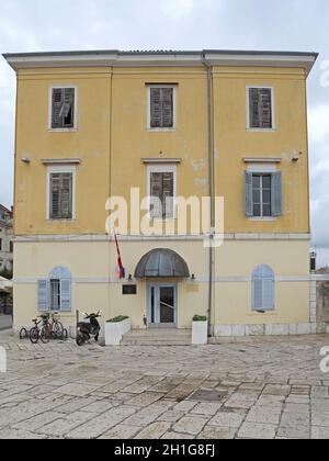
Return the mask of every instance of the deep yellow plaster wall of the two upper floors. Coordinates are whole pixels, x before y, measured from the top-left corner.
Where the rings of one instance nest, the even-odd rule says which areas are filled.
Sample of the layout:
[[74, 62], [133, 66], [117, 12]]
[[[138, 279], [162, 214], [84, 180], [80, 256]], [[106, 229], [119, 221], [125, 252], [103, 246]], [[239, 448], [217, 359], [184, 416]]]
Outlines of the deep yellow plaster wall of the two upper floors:
[[[112, 77], [113, 76], [113, 77]], [[215, 191], [225, 196], [225, 231], [308, 233], [308, 173], [305, 74], [298, 69], [214, 69]], [[147, 82], [177, 85], [177, 131], [147, 130]], [[77, 132], [48, 131], [49, 87], [78, 88]], [[246, 130], [246, 87], [272, 86], [276, 130]], [[145, 157], [181, 158], [178, 194], [207, 195], [206, 72], [195, 68], [75, 68], [20, 70], [15, 161], [15, 233], [103, 234], [105, 201], [146, 194]], [[293, 151], [303, 151], [292, 162]], [[160, 154], [161, 153], [161, 154]], [[243, 157], [280, 157], [284, 215], [253, 222], [243, 213]], [[22, 157], [30, 157], [27, 166]], [[77, 220], [46, 221], [43, 158], [79, 157]], [[36, 187], [37, 184], [37, 187]]]

